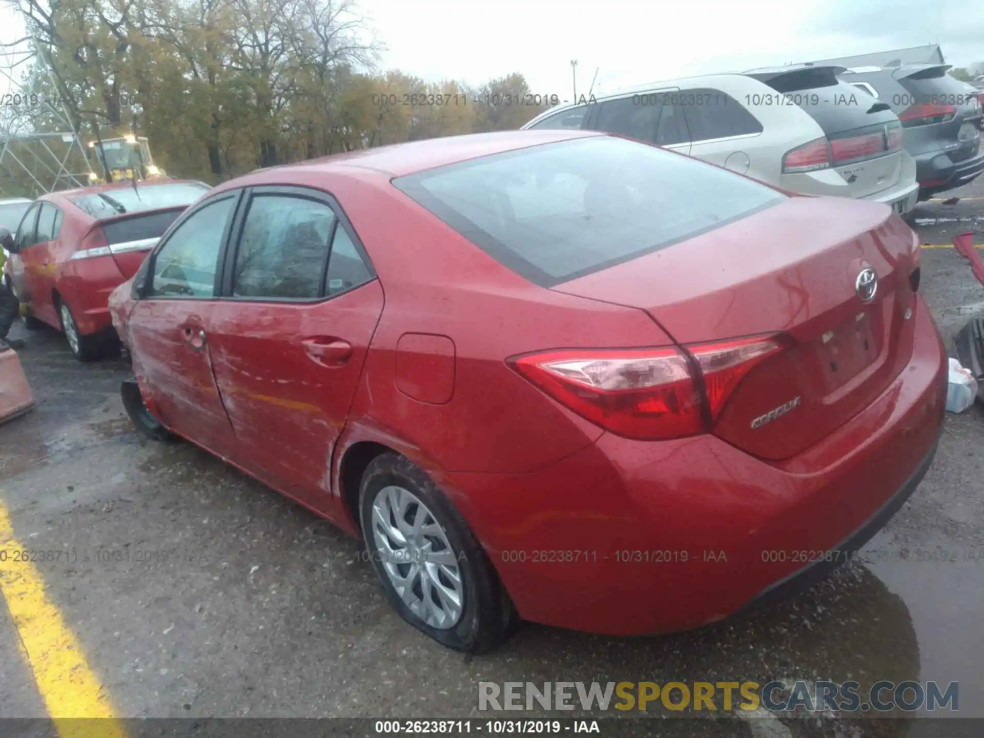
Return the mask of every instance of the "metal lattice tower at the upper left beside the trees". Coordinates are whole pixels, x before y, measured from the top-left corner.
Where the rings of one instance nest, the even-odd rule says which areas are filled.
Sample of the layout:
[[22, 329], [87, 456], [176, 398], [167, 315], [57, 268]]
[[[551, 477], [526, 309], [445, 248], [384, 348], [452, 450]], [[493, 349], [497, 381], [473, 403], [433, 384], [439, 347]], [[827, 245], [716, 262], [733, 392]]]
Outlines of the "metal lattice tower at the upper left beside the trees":
[[0, 46], [0, 197], [38, 197], [96, 178], [36, 39]]

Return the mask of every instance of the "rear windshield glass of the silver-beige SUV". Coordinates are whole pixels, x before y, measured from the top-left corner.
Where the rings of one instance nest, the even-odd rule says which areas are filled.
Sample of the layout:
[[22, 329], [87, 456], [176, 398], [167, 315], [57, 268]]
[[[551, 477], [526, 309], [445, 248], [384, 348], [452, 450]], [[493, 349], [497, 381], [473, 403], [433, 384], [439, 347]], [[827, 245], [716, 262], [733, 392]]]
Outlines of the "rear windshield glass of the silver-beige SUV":
[[806, 110], [828, 138], [898, 121], [888, 103], [840, 82], [832, 72], [804, 70], [765, 82], [776, 92], [785, 92], [785, 99], [791, 104]]

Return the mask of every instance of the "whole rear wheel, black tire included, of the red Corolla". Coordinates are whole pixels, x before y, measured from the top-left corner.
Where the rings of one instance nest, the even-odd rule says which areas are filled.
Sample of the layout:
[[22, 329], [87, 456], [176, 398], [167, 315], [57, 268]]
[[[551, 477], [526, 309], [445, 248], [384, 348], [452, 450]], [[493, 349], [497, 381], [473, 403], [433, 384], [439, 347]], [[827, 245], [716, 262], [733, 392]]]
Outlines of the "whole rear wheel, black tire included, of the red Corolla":
[[[374, 517], [375, 506], [383, 513], [380, 520]], [[397, 509], [403, 511], [402, 523], [407, 528], [412, 523], [406, 518], [422, 516], [416, 520], [429, 531], [418, 534], [417, 540], [423, 541], [419, 548], [413, 543], [413, 548], [400, 545], [399, 539], [387, 532], [394, 530], [395, 517], [390, 513]], [[474, 533], [422, 469], [397, 454], [377, 457], [362, 475], [359, 511], [368, 557], [390, 604], [403, 620], [443, 646], [466, 653], [484, 653], [506, 640], [517, 622], [509, 595]], [[399, 525], [396, 527], [395, 532], [401, 533]], [[454, 561], [454, 565], [435, 564], [434, 554], [445, 551], [444, 559]], [[419, 567], [421, 559], [429, 566]], [[458, 574], [457, 587], [454, 577], [449, 576], [454, 572]], [[400, 578], [409, 583], [401, 587], [405, 600], [397, 588]], [[439, 591], [446, 595], [440, 596]]]

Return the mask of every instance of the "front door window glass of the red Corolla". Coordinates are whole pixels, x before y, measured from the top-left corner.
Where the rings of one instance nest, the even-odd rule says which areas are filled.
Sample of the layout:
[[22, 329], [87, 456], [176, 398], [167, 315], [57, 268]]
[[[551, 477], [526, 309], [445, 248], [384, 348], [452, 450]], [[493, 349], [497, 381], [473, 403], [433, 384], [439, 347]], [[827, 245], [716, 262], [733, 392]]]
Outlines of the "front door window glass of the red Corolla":
[[235, 198], [196, 211], [175, 228], [154, 255], [148, 297], [212, 297], [215, 269]]

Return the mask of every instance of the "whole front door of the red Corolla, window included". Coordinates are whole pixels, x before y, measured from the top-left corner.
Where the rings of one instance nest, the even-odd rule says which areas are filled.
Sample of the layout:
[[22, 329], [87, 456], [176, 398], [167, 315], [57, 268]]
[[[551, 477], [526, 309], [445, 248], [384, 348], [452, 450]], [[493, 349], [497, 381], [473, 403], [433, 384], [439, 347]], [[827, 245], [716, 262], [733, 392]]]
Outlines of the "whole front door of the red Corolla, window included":
[[218, 257], [239, 193], [198, 206], [154, 251], [150, 277], [127, 319], [141, 392], [178, 434], [229, 458], [232, 426], [215, 385], [208, 326]]

